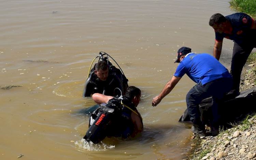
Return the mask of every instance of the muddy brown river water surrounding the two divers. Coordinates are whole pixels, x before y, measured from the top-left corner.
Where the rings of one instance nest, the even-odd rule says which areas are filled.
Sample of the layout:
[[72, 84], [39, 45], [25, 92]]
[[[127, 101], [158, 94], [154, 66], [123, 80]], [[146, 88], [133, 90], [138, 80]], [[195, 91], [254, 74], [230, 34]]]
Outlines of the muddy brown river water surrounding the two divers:
[[[151, 102], [173, 76], [180, 47], [212, 53], [214, 13], [233, 11], [227, 0], [1, 0], [0, 86], [10, 87], [0, 89], [0, 159], [182, 159], [191, 131], [178, 120], [195, 83], [184, 76], [157, 107]], [[227, 66], [231, 50], [224, 40]], [[82, 141], [88, 115], [80, 110], [95, 105], [83, 86], [100, 51], [142, 90], [136, 139]]]

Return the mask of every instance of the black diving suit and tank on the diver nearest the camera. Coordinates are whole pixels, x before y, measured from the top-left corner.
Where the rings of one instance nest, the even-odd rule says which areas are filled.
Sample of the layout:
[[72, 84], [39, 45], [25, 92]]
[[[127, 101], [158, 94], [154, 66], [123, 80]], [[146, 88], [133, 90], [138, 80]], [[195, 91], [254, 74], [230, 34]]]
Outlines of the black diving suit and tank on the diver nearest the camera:
[[99, 143], [107, 136], [129, 138], [134, 132], [134, 124], [131, 119], [133, 111], [126, 106], [139, 114], [136, 107], [127, 99], [112, 98], [105, 105], [101, 105], [91, 114], [89, 120], [91, 126], [89, 126], [84, 139]]

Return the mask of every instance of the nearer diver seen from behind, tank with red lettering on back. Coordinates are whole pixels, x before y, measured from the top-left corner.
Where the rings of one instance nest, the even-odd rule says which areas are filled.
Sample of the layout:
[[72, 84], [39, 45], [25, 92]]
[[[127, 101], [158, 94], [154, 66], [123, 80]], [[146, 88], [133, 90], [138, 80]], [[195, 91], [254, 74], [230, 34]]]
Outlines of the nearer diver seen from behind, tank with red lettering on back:
[[93, 100], [100, 107], [91, 114], [89, 129], [84, 139], [99, 143], [105, 137], [135, 137], [143, 130], [142, 117], [136, 107], [140, 102], [141, 90], [130, 86], [124, 97], [114, 98], [103, 94], [93, 94]]

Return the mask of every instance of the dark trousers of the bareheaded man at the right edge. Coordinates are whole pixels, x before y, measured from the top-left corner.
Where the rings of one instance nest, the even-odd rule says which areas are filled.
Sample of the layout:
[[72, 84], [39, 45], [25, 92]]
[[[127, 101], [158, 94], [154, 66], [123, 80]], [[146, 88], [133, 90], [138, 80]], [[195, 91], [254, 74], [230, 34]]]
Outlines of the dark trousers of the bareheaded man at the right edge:
[[240, 76], [242, 73], [243, 66], [245, 65], [253, 48], [255, 47], [255, 39], [252, 39], [252, 42], [244, 42], [242, 44], [237, 44], [236, 42], [234, 42], [230, 68], [230, 75], [233, 78], [232, 90], [236, 90], [239, 92]]

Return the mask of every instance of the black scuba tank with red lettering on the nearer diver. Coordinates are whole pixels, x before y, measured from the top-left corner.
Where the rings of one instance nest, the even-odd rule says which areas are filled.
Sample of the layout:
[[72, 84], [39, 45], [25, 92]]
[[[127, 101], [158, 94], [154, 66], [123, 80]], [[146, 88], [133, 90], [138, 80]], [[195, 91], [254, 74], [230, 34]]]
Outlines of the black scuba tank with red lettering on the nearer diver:
[[84, 139], [94, 144], [102, 141], [109, 132], [111, 124], [116, 119], [116, 115], [121, 112], [120, 101], [113, 98], [105, 106], [101, 106], [93, 124], [89, 127]]

